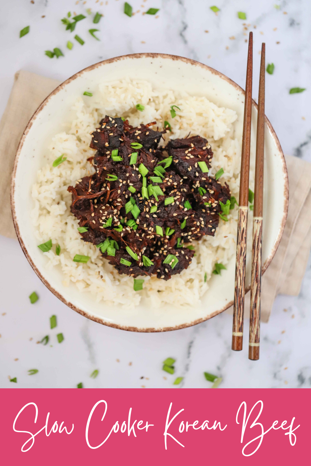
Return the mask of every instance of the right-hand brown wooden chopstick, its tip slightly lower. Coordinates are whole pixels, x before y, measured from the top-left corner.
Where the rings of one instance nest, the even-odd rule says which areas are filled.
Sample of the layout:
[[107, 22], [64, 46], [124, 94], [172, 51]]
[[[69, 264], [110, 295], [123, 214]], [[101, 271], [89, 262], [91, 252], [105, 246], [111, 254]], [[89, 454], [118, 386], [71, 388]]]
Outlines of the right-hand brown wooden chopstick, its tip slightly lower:
[[263, 43], [261, 49], [257, 141], [256, 141], [256, 169], [254, 192], [253, 219], [253, 249], [252, 249], [252, 277], [250, 285], [250, 315], [249, 315], [249, 359], [259, 359], [260, 336], [260, 293], [262, 268], [262, 236], [263, 236], [263, 154], [264, 154], [264, 93], [265, 93], [265, 51]]

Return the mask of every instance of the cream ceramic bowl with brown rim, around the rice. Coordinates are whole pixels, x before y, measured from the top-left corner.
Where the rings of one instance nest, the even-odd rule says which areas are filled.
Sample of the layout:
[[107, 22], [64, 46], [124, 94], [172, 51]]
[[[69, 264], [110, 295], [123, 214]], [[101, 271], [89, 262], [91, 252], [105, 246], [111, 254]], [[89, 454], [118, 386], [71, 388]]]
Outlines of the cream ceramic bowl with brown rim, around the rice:
[[[206, 96], [221, 107], [236, 111], [235, 134], [242, 135], [244, 91], [218, 71], [187, 58], [163, 54], [124, 55], [83, 69], [58, 86], [41, 103], [29, 121], [16, 153], [12, 175], [11, 205], [16, 233], [21, 247], [43, 283], [55, 296], [76, 312], [96, 322], [118, 329], [155, 332], [180, 329], [203, 322], [233, 304], [235, 257], [221, 276], [213, 276], [210, 288], [196, 308], [161, 308], [140, 306], [134, 310], [108, 307], [97, 303], [89, 293], [79, 293], [76, 286], [62, 285], [62, 273], [56, 267], [47, 270], [46, 258], [37, 247], [34, 226], [30, 219], [33, 209], [31, 186], [37, 170], [45, 163], [42, 153], [46, 141], [62, 130], [70, 107], [81, 89], [94, 89], [99, 82], [129, 76], [146, 79], [156, 87], [186, 90], [189, 94]], [[257, 105], [252, 109], [251, 164], [255, 161]], [[265, 171], [263, 206], [263, 272], [273, 258], [281, 239], [288, 207], [288, 178], [283, 152], [276, 134], [265, 120]], [[249, 254], [250, 256], [250, 254]], [[246, 288], [250, 285], [250, 260], [247, 261]]]

